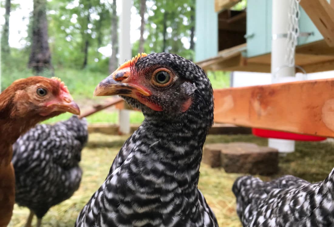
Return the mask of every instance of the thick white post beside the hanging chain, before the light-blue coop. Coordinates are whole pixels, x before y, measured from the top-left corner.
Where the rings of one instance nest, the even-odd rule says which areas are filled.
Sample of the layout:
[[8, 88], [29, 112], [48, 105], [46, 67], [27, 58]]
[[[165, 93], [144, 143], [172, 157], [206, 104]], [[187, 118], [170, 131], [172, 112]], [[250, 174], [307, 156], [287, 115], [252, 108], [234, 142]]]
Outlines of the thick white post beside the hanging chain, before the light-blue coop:
[[[295, 81], [295, 68], [284, 67], [287, 64], [285, 55], [287, 52], [287, 36], [289, 28], [290, 0], [273, 0], [272, 9], [272, 55], [271, 72], [272, 83]], [[278, 69], [280, 69], [278, 71]], [[289, 102], [287, 100], [287, 102]], [[268, 146], [278, 149], [280, 152], [293, 152], [294, 140], [274, 139], [268, 140]]]

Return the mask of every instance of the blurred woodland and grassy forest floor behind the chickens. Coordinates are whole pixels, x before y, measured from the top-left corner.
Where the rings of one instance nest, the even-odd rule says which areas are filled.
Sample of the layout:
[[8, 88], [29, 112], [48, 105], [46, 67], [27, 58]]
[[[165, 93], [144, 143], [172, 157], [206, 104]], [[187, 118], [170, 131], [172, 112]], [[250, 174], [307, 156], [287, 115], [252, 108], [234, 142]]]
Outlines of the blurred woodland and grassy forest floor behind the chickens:
[[[74, 99], [91, 99], [97, 83], [114, 71], [122, 0], [1, 0], [1, 90], [18, 78], [57, 76]], [[129, 0], [128, 0], [129, 1]], [[23, 4], [24, 3], [24, 4]], [[20, 48], [10, 47], [10, 15], [32, 4]], [[195, 0], [133, 0], [132, 54], [171, 52], [194, 59]], [[245, 1], [236, 7], [242, 8]], [[20, 19], [20, 18], [19, 18]], [[16, 18], [17, 21], [17, 18]], [[227, 73], [209, 73], [214, 88], [228, 87]], [[219, 78], [219, 79], [218, 79]]]

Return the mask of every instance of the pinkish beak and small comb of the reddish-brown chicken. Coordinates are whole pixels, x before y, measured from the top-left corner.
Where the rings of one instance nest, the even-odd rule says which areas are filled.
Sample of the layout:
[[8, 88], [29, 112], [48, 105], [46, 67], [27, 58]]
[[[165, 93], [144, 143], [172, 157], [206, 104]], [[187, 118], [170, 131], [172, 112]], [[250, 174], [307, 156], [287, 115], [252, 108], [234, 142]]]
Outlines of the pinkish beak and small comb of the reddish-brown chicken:
[[72, 97], [68, 93], [63, 93], [60, 96], [59, 101], [47, 105], [52, 107], [53, 111], [69, 112], [76, 115], [80, 115], [80, 109], [78, 105], [73, 101]]

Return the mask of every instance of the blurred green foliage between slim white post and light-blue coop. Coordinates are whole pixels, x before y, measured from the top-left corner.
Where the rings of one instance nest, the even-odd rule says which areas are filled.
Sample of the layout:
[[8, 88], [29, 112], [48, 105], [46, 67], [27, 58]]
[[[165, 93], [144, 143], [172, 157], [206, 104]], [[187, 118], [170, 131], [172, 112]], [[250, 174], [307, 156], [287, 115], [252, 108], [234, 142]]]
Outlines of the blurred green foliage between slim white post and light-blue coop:
[[[192, 59], [194, 51], [185, 47], [181, 40], [190, 42], [191, 28], [195, 26], [195, 21], [191, 20], [191, 16], [195, 14], [195, 1], [152, 0], [150, 2], [153, 4], [147, 8], [148, 36], [144, 44], [145, 52], [169, 52]], [[134, 0], [134, 6], [139, 13], [140, 0]], [[133, 55], [137, 54], [138, 46], [139, 42], [133, 45]]]

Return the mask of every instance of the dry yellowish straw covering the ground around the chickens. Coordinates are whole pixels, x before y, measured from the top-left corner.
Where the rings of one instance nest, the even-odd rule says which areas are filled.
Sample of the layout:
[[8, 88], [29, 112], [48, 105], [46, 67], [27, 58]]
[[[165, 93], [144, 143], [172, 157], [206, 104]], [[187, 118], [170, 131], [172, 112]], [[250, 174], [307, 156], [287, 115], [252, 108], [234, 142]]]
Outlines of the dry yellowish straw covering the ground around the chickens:
[[[93, 133], [88, 145], [82, 151], [80, 166], [83, 177], [74, 195], [52, 207], [43, 218], [43, 226], [69, 227], [88, 202], [92, 194], [104, 182], [109, 168], [129, 135], [112, 136]], [[267, 139], [253, 135], [209, 135], [206, 143], [247, 141], [267, 145]], [[334, 144], [329, 142], [296, 142], [296, 151], [280, 157], [279, 172], [274, 176], [259, 176], [270, 180], [285, 174], [293, 174], [311, 182], [324, 180], [334, 162]], [[210, 168], [201, 164], [198, 188], [215, 213], [219, 226], [240, 227], [235, 212], [235, 198], [231, 191], [234, 180], [242, 174], [226, 173], [223, 168]], [[22, 227], [28, 216], [28, 209], [15, 205], [10, 227]], [[35, 220], [33, 221], [33, 224]]]

